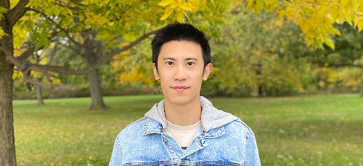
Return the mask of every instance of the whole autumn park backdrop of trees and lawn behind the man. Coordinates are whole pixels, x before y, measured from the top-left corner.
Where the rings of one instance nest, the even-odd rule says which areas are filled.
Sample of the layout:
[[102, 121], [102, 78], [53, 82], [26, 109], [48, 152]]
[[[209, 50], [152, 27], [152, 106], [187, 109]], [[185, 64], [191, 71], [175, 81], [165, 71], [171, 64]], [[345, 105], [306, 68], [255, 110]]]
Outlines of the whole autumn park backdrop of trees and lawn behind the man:
[[117, 133], [162, 100], [150, 43], [176, 22], [207, 35], [201, 95], [254, 130], [262, 165], [363, 165], [360, 1], [0, 5], [0, 138], [15, 145], [0, 165], [15, 152], [17, 165], [107, 165]]

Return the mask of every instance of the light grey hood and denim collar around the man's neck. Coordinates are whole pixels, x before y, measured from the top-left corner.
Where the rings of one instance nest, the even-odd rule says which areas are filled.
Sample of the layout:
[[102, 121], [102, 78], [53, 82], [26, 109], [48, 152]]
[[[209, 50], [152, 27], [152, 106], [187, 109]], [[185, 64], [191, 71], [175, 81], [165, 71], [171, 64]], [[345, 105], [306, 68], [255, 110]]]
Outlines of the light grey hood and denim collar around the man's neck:
[[[203, 96], [200, 97], [200, 100], [202, 107], [201, 125], [206, 138], [215, 138], [223, 135], [225, 133], [223, 125], [239, 119], [231, 113], [214, 108], [212, 102]], [[145, 117], [148, 119], [145, 121], [142, 134], [160, 133], [167, 127], [165, 101], [161, 100], [158, 104], [155, 104], [150, 111], [145, 113]]]

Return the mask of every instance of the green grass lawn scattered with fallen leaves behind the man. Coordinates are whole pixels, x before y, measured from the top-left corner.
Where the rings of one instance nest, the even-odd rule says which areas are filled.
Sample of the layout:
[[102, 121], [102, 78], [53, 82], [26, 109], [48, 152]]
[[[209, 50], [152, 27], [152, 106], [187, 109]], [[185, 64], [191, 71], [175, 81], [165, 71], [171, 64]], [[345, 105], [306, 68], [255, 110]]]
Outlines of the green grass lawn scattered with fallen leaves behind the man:
[[[15, 100], [18, 165], [108, 165], [115, 136], [162, 95]], [[358, 94], [286, 98], [212, 98], [253, 130], [262, 165], [363, 166], [363, 98]]]

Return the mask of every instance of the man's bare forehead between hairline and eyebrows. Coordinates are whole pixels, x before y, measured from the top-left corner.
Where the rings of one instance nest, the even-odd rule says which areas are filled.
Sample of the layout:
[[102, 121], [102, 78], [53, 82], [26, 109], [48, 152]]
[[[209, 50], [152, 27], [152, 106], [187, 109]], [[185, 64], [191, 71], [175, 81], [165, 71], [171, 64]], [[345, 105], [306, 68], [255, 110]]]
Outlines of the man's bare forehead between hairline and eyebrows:
[[200, 44], [189, 41], [171, 41], [162, 45], [158, 59], [164, 57], [196, 57], [203, 58]]

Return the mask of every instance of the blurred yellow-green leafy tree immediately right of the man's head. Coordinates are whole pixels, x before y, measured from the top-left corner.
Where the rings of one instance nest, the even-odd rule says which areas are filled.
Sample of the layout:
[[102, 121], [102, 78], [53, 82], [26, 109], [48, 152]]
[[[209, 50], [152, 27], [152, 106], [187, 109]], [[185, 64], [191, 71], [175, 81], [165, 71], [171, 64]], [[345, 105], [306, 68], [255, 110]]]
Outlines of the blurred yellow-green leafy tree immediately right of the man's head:
[[295, 24], [275, 12], [260, 15], [235, 7], [225, 13], [220, 39], [211, 39], [214, 72], [204, 95], [244, 97], [304, 92], [311, 78], [304, 57], [313, 55]]

